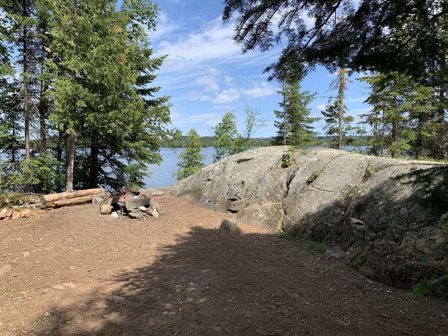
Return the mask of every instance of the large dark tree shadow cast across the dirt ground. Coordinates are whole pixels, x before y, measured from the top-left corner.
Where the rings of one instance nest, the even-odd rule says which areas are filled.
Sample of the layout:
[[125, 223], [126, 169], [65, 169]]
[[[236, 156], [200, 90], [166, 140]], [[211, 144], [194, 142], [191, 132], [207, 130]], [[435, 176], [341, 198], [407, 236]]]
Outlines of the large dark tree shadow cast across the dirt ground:
[[446, 302], [407, 299], [289, 244], [186, 228], [155, 261], [55, 305], [28, 335], [448, 335]]

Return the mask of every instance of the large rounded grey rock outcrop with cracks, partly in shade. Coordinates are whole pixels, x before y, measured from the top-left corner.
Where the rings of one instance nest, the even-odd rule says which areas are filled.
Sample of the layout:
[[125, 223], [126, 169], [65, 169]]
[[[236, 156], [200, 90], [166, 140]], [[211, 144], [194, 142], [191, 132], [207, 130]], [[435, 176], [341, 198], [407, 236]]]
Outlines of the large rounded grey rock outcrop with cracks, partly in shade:
[[391, 180], [432, 162], [314, 148], [280, 168], [283, 146], [232, 155], [178, 182], [171, 194], [272, 232], [345, 251], [361, 274], [402, 288], [443, 274], [448, 227], [409, 202], [419, 192]]

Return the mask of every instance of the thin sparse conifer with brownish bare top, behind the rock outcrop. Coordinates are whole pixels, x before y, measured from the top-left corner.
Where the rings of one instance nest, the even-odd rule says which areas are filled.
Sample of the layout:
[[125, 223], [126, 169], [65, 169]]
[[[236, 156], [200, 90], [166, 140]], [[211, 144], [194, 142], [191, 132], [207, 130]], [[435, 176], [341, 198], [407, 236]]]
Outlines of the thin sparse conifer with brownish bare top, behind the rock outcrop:
[[352, 82], [345, 78], [346, 74], [348, 71], [345, 69], [339, 69], [337, 72], [337, 78], [331, 83], [329, 89], [329, 91], [337, 91], [337, 96], [330, 97], [327, 109], [322, 111], [325, 117], [325, 134], [329, 136], [336, 134], [336, 141], [332, 141], [332, 147], [339, 150], [342, 149], [343, 144], [350, 142], [351, 139], [347, 135], [353, 129], [350, 123], [354, 120], [353, 116], [345, 114], [348, 112], [344, 104], [345, 91], [348, 90], [347, 83]]

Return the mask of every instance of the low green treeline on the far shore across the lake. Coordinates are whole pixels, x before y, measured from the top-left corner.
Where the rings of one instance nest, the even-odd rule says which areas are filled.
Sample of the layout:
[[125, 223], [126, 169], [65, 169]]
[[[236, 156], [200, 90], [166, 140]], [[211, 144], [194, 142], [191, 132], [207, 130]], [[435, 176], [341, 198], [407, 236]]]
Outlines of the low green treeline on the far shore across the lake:
[[[369, 137], [365, 135], [357, 135], [351, 136], [350, 146], [370, 146]], [[327, 136], [314, 136], [312, 137], [313, 141], [310, 143], [311, 146], [325, 146], [326, 143], [329, 143], [331, 138]], [[269, 138], [254, 138], [251, 140], [256, 140], [258, 142], [258, 147], [268, 147], [272, 146], [271, 140], [272, 137]], [[201, 136], [201, 144], [202, 147], [213, 147], [213, 137], [212, 136]], [[176, 147], [176, 148], [184, 148], [188, 145], [188, 137], [182, 136], [177, 141], [162, 141], [161, 147]]]

